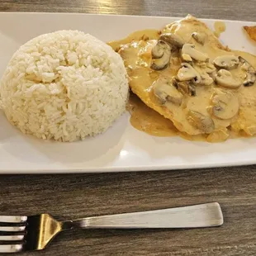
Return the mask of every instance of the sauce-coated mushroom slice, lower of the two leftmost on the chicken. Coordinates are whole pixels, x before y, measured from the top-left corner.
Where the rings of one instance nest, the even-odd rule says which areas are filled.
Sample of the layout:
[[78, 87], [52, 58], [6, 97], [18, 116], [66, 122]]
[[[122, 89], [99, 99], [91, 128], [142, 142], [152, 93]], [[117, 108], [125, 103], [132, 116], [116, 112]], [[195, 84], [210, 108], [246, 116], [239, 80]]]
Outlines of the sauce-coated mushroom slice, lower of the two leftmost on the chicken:
[[164, 104], [165, 102], [173, 102], [180, 106], [183, 102], [183, 94], [173, 86], [168, 78], [159, 78], [153, 83], [154, 95]]

